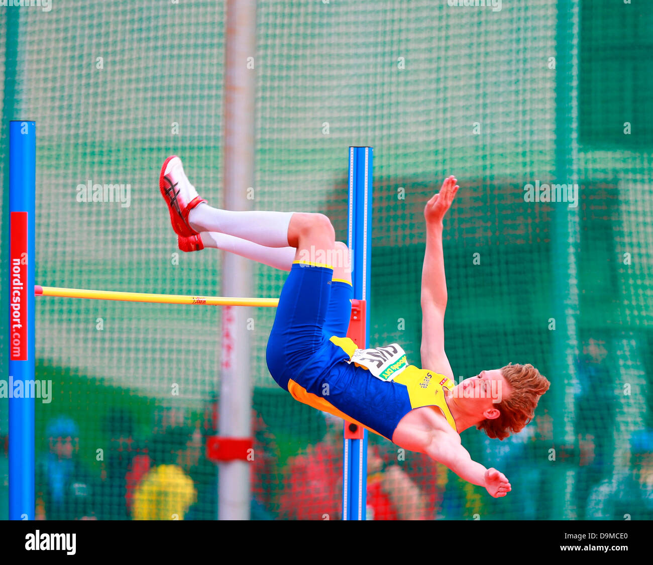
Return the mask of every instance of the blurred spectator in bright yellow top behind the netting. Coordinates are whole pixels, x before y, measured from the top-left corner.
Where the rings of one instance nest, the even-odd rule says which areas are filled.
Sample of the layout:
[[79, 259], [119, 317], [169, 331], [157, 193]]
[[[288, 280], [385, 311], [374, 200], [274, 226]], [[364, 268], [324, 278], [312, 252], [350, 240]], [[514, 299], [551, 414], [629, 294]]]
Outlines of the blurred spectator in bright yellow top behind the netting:
[[193, 460], [188, 453], [193, 431], [178, 426], [153, 435], [149, 446], [151, 468], [134, 492], [134, 519], [185, 519], [197, 500], [193, 479], [187, 474]]

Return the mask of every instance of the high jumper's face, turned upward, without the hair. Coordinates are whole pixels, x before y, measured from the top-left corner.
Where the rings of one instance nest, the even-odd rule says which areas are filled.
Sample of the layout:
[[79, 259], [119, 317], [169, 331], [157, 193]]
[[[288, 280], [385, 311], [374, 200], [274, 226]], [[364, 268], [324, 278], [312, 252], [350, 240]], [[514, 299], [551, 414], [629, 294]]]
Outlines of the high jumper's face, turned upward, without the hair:
[[501, 369], [490, 369], [461, 381], [454, 387], [453, 394], [466, 412], [492, 419], [499, 417], [498, 404], [508, 397], [510, 386]]

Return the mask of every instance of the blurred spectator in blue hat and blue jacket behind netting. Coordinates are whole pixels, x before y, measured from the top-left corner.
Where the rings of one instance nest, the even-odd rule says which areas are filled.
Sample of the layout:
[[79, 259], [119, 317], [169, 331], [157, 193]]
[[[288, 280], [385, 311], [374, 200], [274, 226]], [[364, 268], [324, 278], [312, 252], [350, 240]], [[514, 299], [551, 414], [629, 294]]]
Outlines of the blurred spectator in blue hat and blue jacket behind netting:
[[48, 453], [37, 463], [37, 519], [95, 518], [97, 486], [78, 461], [79, 428], [67, 416], [46, 427]]

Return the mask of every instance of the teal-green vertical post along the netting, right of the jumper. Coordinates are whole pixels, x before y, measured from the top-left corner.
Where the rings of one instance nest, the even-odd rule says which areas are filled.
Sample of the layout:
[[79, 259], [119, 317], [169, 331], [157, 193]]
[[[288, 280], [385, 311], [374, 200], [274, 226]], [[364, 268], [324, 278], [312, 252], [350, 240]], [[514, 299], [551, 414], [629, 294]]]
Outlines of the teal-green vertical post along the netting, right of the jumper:
[[[558, 1], [556, 24], [556, 183], [577, 184], [578, 178], [578, 73], [579, 2]], [[579, 314], [578, 268], [579, 210], [554, 204], [552, 233], [552, 307], [556, 320], [553, 334], [552, 376], [553, 439], [556, 448], [575, 444], [575, 395]], [[563, 381], [564, 378], [564, 381]], [[556, 496], [552, 498], [554, 520], [575, 519], [575, 470], [558, 462], [554, 467]]]

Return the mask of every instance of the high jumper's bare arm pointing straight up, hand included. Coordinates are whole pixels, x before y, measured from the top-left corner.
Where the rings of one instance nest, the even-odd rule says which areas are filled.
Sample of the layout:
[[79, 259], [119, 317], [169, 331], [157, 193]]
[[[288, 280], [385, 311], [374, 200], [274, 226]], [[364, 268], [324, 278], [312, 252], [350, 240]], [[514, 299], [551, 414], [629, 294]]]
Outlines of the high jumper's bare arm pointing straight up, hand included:
[[422, 367], [453, 379], [453, 371], [445, 354], [445, 310], [447, 309], [447, 279], [442, 251], [443, 219], [458, 192], [453, 176], [424, 207], [426, 220], [426, 251], [422, 266]]

